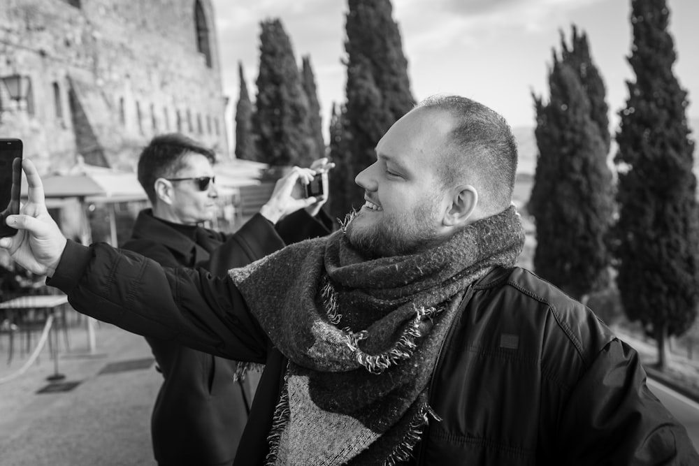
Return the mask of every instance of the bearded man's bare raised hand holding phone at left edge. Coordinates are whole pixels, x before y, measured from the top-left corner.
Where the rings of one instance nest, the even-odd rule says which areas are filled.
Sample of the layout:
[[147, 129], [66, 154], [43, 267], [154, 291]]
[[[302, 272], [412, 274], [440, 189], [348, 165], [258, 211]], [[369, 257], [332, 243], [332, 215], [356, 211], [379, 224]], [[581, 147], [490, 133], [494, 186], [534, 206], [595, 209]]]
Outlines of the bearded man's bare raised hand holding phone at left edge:
[[14, 236], [0, 238], [0, 247], [30, 272], [51, 277], [66, 247], [66, 238], [46, 210], [43, 184], [34, 163], [24, 159], [22, 170], [27, 175], [29, 199], [19, 215], [7, 217], [8, 226], [18, 231]]

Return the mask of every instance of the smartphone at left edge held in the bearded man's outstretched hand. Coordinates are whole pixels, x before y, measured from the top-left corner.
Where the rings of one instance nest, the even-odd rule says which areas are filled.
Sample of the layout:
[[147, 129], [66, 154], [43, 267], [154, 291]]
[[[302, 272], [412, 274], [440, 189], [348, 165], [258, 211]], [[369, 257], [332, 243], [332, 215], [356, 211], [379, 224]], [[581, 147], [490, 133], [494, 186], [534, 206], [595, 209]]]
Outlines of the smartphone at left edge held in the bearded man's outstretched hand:
[[22, 183], [22, 141], [0, 138], [0, 238], [14, 236], [15, 228], [7, 226], [8, 215], [20, 213]]

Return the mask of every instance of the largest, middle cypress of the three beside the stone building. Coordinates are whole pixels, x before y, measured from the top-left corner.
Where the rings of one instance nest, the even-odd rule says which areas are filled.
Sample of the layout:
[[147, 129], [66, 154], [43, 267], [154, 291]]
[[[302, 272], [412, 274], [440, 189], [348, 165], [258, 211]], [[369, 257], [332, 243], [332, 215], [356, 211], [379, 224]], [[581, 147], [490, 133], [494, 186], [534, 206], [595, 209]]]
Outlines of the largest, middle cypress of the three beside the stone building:
[[294, 50], [282, 22], [261, 22], [257, 110], [252, 127], [259, 161], [273, 166], [308, 166], [308, 99], [301, 87]]

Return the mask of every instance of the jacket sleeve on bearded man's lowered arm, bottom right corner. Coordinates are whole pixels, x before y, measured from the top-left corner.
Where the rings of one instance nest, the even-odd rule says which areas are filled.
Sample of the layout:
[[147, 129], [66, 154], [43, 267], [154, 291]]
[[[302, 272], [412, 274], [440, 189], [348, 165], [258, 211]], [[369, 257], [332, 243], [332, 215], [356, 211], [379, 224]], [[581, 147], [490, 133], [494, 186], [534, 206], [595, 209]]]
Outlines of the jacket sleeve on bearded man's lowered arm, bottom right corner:
[[638, 354], [607, 344], [563, 409], [559, 464], [699, 465], [685, 428], [651, 393]]

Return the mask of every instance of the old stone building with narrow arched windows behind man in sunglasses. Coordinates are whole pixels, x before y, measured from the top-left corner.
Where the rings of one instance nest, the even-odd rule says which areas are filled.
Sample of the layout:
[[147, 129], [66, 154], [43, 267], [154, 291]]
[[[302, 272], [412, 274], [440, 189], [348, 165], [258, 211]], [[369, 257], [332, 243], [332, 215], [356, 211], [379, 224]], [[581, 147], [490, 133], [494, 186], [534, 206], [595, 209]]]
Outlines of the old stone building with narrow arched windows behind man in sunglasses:
[[169, 131], [229, 154], [210, 0], [1, 0], [0, 78], [0, 136], [41, 173], [133, 170]]

